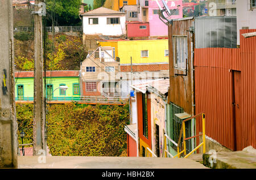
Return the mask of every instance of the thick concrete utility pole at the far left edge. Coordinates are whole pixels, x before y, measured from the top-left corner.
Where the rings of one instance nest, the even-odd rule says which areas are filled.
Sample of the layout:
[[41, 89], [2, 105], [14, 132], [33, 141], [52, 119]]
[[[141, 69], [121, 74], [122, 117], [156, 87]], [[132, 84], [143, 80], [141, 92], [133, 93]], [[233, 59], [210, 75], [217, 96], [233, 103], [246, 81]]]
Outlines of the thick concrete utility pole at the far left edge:
[[12, 0], [0, 1], [0, 24], [0, 168], [17, 168]]

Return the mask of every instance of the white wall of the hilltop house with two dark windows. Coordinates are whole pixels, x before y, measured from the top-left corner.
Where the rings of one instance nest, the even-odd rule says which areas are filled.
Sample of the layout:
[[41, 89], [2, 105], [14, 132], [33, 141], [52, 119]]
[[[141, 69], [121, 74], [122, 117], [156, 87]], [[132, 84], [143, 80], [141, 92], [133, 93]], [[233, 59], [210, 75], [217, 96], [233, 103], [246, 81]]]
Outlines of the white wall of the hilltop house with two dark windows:
[[[98, 18], [98, 24], [89, 24], [89, 18]], [[120, 18], [120, 24], [107, 24], [107, 18]], [[120, 36], [126, 34], [125, 15], [123, 16], [83, 16], [83, 32], [85, 35]]]

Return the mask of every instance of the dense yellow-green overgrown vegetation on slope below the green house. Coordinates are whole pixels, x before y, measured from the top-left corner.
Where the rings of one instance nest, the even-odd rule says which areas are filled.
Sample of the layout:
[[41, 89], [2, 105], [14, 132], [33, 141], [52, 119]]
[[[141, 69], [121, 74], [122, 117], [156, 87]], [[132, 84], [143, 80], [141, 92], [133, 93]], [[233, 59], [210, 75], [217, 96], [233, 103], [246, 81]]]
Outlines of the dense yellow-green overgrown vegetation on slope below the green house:
[[[33, 105], [18, 104], [16, 112], [19, 133], [22, 129], [26, 133], [23, 143], [31, 143]], [[51, 105], [47, 144], [52, 156], [122, 156], [127, 123], [129, 105]]]

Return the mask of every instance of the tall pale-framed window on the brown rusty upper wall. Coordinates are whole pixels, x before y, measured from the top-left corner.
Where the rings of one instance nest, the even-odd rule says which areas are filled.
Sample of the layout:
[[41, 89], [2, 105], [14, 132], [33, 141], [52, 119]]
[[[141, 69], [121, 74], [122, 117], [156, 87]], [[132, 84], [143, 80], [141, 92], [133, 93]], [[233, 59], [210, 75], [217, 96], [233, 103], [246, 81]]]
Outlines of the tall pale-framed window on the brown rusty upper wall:
[[188, 38], [187, 36], [173, 36], [174, 67], [186, 68], [188, 59]]

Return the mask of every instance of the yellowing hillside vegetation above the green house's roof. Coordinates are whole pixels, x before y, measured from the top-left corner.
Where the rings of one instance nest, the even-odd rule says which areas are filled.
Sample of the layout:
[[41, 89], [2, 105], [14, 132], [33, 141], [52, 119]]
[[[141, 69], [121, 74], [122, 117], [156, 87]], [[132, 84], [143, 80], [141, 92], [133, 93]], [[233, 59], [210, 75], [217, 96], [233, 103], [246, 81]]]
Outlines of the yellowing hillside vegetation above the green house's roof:
[[[15, 34], [14, 53], [16, 70], [31, 71], [34, 69], [34, 41], [27, 39], [29, 33]], [[82, 37], [58, 33], [54, 38], [48, 36], [46, 49], [47, 70], [80, 70], [88, 50], [82, 44]]]

